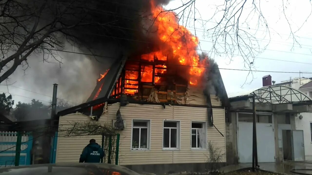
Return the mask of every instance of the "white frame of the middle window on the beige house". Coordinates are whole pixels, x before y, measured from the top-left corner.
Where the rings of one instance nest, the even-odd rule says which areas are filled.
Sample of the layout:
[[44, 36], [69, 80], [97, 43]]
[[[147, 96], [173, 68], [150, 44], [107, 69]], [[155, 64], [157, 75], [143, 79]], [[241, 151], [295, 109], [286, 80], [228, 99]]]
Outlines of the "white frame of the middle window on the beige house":
[[[177, 123], [177, 127], [164, 127], [164, 123], [165, 122], [176, 122]], [[163, 136], [162, 136], [162, 148], [164, 151], [177, 151], [180, 150], [180, 145], [181, 145], [181, 121], [180, 120], [169, 120], [169, 119], [165, 119], [163, 120], [163, 131], [164, 129], [170, 129], [169, 130], [169, 148], [164, 148], [163, 147]], [[170, 148], [171, 145], [171, 129], [177, 129], [177, 147], [176, 148]], [[164, 132], [163, 132], [164, 134]]]

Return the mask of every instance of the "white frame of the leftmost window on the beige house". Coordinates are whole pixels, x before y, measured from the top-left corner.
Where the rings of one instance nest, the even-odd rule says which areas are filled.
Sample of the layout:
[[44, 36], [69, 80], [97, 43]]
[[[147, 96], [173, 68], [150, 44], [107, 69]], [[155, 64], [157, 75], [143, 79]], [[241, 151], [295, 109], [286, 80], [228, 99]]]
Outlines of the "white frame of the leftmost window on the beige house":
[[[134, 126], [134, 122], [147, 122], [147, 127], [144, 126]], [[131, 151], [149, 151], [151, 148], [151, 120], [150, 119], [132, 119], [131, 123], [131, 140], [130, 140], [130, 150]], [[133, 129], [134, 128], [147, 128], [147, 145], [146, 148], [132, 148], [132, 140], [133, 140]], [[141, 129], [139, 130], [139, 147], [141, 142]]]

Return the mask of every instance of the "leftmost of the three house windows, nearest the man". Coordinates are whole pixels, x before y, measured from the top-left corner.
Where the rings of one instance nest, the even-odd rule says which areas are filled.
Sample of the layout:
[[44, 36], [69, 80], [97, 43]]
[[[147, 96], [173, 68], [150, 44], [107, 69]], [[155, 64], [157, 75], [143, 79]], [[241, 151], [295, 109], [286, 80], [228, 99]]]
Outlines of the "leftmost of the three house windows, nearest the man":
[[133, 150], [149, 149], [149, 133], [150, 133], [149, 120], [133, 120], [131, 149]]

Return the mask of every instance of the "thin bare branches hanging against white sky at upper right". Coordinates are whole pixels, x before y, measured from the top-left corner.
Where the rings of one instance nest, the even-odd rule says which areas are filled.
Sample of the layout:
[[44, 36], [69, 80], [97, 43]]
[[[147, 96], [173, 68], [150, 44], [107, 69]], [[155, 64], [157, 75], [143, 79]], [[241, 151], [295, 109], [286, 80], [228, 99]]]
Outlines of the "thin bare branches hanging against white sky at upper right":
[[[241, 57], [244, 67], [250, 70], [249, 74], [252, 75], [252, 71], [256, 70], [255, 58], [267, 49], [271, 41], [271, 33], [280, 35], [268, 23], [268, 14], [263, 12], [265, 8], [268, 8], [266, 4], [268, 2], [260, 0], [210, 1], [207, 2], [210, 3], [207, 10], [214, 12], [211, 16], [205, 16], [205, 19], [197, 9], [197, 2], [196, 0], [182, 1], [181, 6], [162, 12], [176, 12], [176, 17], [183, 26], [188, 25], [193, 28], [195, 35], [199, 31], [202, 32], [203, 37], [210, 40], [208, 42], [212, 43], [211, 48], [205, 50], [199, 45], [199, 50], [212, 55], [212, 57], [225, 54], [230, 58], [230, 63], [234, 57]], [[288, 26], [285, 31], [289, 31], [289, 39], [293, 41], [292, 49], [295, 45], [301, 47], [298, 40], [300, 37], [296, 35], [296, 32], [304, 26], [312, 13], [311, 1], [305, 3], [310, 6], [310, 10], [306, 16], [302, 16], [304, 20], [301, 20], [300, 23], [298, 20], [292, 21], [289, 13], [293, 10], [290, 7], [298, 4], [296, 1], [276, 2], [279, 7], [275, 12], [279, 12], [279, 20]], [[200, 42], [201, 40], [199, 40]]]

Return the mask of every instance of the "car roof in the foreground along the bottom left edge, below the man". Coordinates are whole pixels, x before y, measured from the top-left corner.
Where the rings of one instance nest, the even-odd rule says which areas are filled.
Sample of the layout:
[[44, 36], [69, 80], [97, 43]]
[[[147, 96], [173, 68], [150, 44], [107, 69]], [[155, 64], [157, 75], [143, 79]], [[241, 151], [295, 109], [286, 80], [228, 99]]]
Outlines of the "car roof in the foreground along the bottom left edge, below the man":
[[107, 163], [56, 163], [0, 168], [0, 175], [139, 175]]

